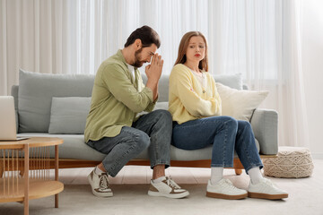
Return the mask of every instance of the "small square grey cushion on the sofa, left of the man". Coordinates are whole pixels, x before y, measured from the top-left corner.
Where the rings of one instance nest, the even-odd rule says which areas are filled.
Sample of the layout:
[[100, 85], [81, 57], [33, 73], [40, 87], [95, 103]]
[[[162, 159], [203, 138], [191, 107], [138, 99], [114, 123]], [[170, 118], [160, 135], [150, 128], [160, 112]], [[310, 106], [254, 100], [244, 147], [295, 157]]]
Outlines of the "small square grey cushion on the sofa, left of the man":
[[53, 97], [48, 133], [84, 133], [91, 97]]

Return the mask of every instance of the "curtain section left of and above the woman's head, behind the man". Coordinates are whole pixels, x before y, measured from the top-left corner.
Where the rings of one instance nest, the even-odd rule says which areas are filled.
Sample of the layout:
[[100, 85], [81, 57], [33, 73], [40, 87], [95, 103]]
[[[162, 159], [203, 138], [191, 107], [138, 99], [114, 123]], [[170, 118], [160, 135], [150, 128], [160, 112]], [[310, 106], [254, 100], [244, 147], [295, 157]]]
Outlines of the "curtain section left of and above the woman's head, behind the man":
[[0, 0], [0, 95], [10, 94], [19, 68], [96, 73], [100, 63], [144, 24], [160, 34], [164, 73], [170, 73], [182, 35], [188, 30], [207, 33], [207, 4], [203, 0]]

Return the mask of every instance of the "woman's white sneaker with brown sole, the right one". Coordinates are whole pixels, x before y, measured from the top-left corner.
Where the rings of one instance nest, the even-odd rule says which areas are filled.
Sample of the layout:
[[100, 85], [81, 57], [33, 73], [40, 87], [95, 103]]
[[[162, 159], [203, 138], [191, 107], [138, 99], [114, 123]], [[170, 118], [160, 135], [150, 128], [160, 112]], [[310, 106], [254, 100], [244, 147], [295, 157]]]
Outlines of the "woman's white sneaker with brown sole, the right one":
[[288, 193], [284, 190], [279, 189], [274, 185], [269, 179], [265, 177], [256, 185], [253, 185], [250, 181], [248, 188], [248, 196], [250, 198], [259, 198], [259, 199], [284, 199], [288, 197]]

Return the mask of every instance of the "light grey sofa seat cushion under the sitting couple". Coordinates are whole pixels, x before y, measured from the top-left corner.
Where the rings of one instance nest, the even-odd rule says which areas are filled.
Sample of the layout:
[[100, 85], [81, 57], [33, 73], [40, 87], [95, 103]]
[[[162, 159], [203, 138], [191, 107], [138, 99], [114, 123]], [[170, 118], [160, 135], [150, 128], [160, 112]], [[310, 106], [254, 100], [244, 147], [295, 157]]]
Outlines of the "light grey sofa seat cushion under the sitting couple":
[[[105, 154], [92, 149], [84, 142], [83, 134], [19, 133], [18, 136], [46, 136], [62, 138], [64, 140], [64, 143], [59, 145], [58, 147], [58, 154], [60, 159], [87, 159], [100, 161], [105, 157]], [[257, 140], [256, 144], [259, 151], [259, 144]], [[55, 157], [54, 147], [50, 147], [49, 157]], [[211, 157], [212, 145], [200, 150], [180, 150], [172, 145], [170, 146], [171, 160], [199, 160], [211, 159]], [[144, 150], [138, 155], [136, 159], [148, 159], [148, 150]]]

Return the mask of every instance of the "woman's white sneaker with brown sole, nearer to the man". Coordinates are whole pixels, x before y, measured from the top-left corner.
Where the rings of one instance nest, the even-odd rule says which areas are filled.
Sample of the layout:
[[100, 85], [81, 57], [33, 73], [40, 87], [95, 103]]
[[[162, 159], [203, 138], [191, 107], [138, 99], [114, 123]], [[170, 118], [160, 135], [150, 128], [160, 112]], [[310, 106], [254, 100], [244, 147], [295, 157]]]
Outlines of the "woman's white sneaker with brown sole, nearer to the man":
[[229, 179], [221, 179], [216, 185], [211, 184], [211, 180], [208, 180], [206, 187], [206, 196], [218, 199], [244, 199], [248, 196], [247, 191], [241, 190], [232, 185]]

